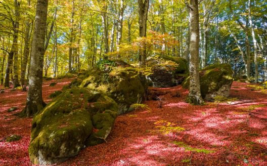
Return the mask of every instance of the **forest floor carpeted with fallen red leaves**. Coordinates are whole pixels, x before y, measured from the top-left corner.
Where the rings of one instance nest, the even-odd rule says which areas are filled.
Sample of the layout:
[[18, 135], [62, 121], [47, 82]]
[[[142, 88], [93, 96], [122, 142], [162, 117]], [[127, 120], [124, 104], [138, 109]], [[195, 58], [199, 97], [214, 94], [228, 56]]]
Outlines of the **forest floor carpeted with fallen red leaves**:
[[[49, 87], [57, 81], [55, 87]], [[45, 81], [43, 98], [69, 79]], [[250, 84], [234, 82], [225, 103], [192, 106], [181, 86], [155, 89], [168, 92], [116, 119], [107, 143], [83, 149], [59, 165], [267, 165], [267, 94]], [[180, 94], [180, 97], [176, 94]], [[18, 118], [7, 109], [22, 110], [27, 93], [0, 94], [0, 140], [11, 134], [15, 142], [0, 141], [0, 165], [31, 165], [28, 156], [32, 118]]]

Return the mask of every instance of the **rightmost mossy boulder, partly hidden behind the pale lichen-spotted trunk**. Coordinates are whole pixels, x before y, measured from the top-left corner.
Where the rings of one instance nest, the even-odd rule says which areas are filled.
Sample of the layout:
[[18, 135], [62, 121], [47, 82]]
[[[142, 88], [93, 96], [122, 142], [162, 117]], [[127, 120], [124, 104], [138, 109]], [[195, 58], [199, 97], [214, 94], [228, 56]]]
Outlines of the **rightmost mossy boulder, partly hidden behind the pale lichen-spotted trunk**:
[[[229, 97], [234, 80], [233, 73], [229, 64], [214, 64], [202, 69], [199, 72], [202, 98], [207, 101], [214, 101], [216, 96]], [[188, 89], [189, 84], [188, 77], [182, 86]]]

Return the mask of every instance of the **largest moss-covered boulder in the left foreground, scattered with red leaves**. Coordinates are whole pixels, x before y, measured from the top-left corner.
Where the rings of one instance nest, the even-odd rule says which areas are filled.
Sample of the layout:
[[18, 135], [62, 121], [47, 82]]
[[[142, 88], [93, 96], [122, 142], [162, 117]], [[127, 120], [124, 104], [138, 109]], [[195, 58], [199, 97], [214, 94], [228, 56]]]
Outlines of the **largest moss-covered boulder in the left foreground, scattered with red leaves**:
[[66, 90], [34, 116], [29, 145], [34, 164], [52, 164], [103, 143], [117, 116], [111, 98], [86, 88]]

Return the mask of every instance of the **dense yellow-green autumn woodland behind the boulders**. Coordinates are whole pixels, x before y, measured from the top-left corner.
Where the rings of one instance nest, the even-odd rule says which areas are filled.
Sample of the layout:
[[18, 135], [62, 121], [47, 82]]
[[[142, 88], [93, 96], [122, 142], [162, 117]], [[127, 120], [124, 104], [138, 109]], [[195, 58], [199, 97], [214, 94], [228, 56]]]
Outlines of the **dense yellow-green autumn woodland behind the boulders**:
[[[147, 34], [140, 32], [140, 3], [49, 1], [44, 76], [88, 70], [107, 57], [135, 64], [143, 46], [147, 46], [145, 57], [164, 54], [188, 59], [187, 2], [150, 1]], [[10, 80], [15, 87], [26, 84], [35, 7], [34, 0], [0, 1], [0, 78], [6, 87]], [[262, 0], [199, 1], [200, 66], [228, 63], [236, 76], [267, 80], [266, 10], [267, 2]]]

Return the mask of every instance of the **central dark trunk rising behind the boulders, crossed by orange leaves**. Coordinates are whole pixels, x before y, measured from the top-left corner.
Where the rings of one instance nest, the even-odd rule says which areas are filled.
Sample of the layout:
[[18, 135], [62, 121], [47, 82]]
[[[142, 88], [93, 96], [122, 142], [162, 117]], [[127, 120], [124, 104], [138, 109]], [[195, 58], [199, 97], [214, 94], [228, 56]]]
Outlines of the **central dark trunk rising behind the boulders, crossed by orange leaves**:
[[[148, 17], [148, 8], [149, 0], [138, 0], [138, 12], [139, 12], [139, 36], [147, 36], [147, 17]], [[139, 66], [146, 65], [146, 46], [143, 46], [143, 49], [140, 49], [139, 53]]]

